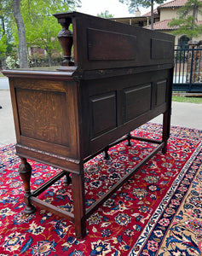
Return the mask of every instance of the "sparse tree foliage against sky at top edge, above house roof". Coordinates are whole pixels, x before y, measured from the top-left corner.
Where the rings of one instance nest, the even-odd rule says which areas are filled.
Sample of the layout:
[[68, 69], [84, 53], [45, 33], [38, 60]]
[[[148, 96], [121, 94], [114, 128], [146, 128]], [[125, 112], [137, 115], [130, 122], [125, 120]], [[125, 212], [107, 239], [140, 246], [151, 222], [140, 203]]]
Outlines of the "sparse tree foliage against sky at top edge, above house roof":
[[125, 3], [129, 6], [130, 13], [134, 13], [138, 6], [150, 7], [154, 3], [164, 3], [164, 0], [119, 0], [120, 3]]

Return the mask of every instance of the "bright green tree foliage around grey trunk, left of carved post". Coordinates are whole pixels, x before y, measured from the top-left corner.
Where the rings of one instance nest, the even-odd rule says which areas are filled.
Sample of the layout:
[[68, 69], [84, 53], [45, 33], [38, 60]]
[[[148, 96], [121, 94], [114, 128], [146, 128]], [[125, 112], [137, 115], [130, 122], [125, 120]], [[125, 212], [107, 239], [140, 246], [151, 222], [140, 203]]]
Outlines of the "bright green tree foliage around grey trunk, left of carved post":
[[[1, 0], [0, 24], [1, 14], [3, 14], [3, 20], [6, 19], [7, 14], [8, 21], [4, 24], [10, 28], [13, 44], [19, 47], [12, 2], [13, 0]], [[80, 6], [80, 3], [81, 0], [21, 0], [20, 10], [26, 28], [27, 47], [45, 49], [49, 57], [53, 54], [54, 49], [61, 51], [61, 45], [57, 39], [61, 25], [58, 24], [53, 14], [75, 10], [76, 7]], [[10, 52], [11, 44], [8, 44], [8, 50]]]

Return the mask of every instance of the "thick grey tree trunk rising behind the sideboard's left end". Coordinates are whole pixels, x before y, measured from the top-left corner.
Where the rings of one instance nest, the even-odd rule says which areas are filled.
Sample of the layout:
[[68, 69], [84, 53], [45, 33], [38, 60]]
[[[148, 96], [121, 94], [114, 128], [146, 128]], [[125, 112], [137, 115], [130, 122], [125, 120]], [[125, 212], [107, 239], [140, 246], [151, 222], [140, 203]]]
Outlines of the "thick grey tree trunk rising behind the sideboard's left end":
[[26, 29], [20, 11], [20, 0], [13, 0], [14, 19], [18, 27], [20, 68], [27, 68]]

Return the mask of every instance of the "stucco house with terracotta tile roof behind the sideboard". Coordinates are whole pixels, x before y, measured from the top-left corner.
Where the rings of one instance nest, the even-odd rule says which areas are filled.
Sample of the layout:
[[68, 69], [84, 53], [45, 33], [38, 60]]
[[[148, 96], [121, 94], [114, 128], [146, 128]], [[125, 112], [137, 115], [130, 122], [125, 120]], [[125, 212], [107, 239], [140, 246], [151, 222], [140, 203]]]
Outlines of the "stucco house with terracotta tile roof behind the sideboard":
[[[177, 10], [184, 6], [187, 1], [188, 0], [173, 0], [168, 3], [163, 3], [159, 5], [157, 9], [154, 9], [153, 29], [159, 32], [171, 34], [176, 28], [170, 27], [168, 24], [172, 18], [177, 18]], [[116, 20], [118, 22], [127, 23], [134, 26], [143, 26], [147, 29], [151, 29], [151, 12], [148, 12], [144, 15], [140, 15], [140, 12], [137, 12], [134, 17], [113, 18], [111, 20]], [[202, 14], [199, 13], [198, 9], [196, 13], [196, 20], [199, 24], [202, 24]], [[200, 38], [192, 39], [202, 40], [202, 36]], [[176, 44], [186, 44], [188, 40], [189, 38], [187, 38], [185, 35], [176, 36]]]

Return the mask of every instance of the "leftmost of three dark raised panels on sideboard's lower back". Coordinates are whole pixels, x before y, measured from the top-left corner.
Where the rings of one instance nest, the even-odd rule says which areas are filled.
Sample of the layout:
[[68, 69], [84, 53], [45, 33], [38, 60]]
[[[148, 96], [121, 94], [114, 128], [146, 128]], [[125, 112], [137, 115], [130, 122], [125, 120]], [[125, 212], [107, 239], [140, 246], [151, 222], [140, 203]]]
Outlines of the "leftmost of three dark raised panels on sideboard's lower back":
[[97, 137], [117, 126], [116, 92], [90, 97], [90, 137]]

